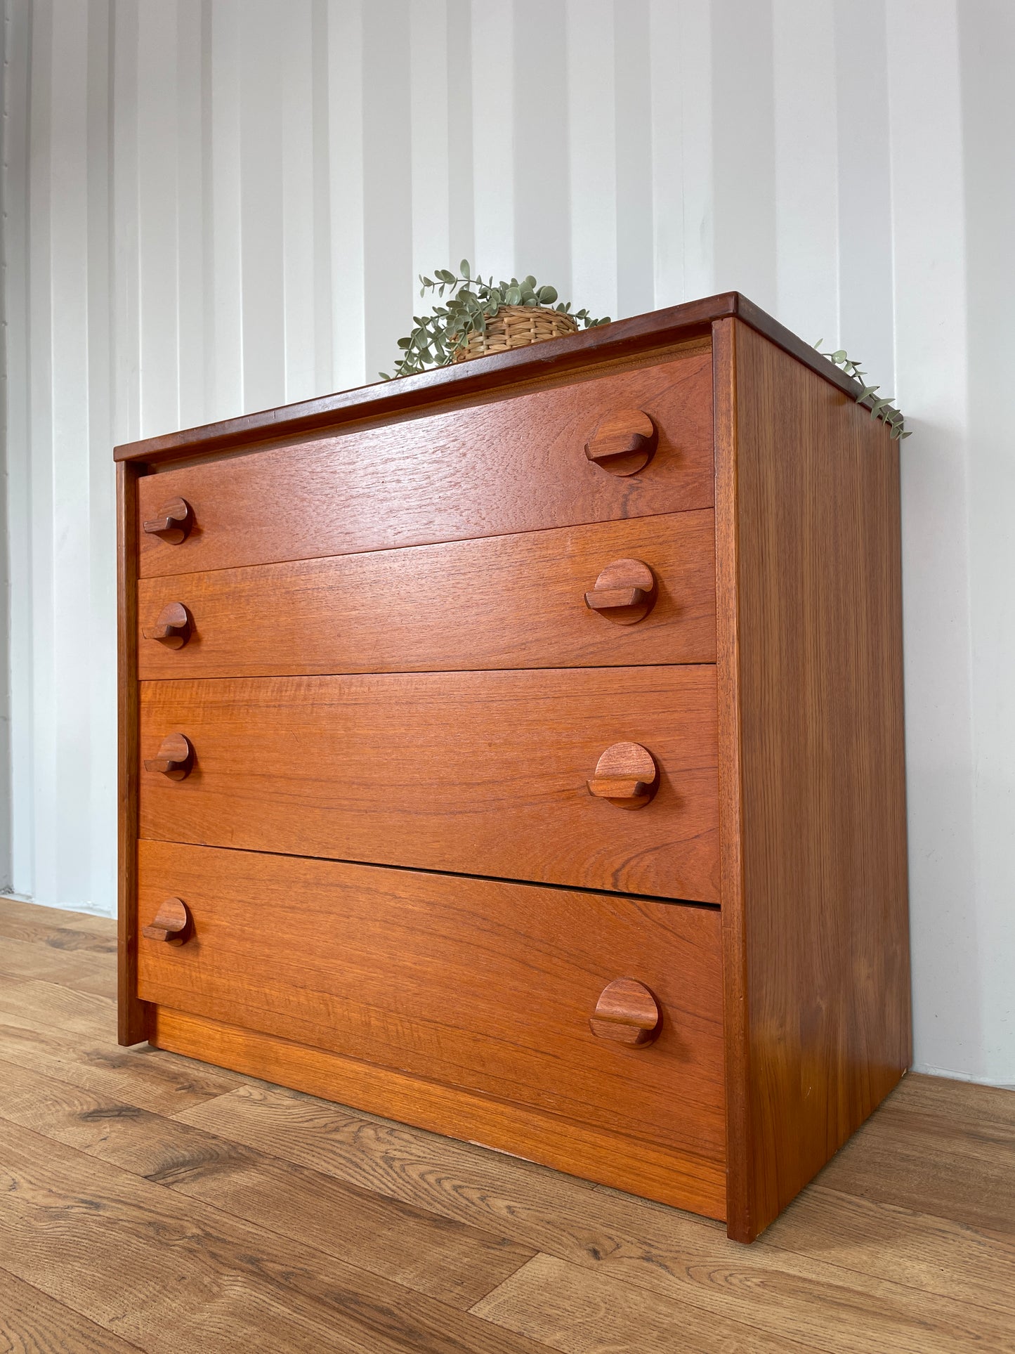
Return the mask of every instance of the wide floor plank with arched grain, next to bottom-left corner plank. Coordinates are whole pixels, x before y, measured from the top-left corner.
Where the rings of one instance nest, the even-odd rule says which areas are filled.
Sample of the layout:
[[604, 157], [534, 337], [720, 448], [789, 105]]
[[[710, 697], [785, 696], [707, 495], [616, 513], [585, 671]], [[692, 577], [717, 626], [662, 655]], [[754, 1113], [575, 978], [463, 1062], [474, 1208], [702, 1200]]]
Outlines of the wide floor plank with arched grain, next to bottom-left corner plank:
[[149, 1354], [541, 1347], [4, 1120], [0, 1255]]

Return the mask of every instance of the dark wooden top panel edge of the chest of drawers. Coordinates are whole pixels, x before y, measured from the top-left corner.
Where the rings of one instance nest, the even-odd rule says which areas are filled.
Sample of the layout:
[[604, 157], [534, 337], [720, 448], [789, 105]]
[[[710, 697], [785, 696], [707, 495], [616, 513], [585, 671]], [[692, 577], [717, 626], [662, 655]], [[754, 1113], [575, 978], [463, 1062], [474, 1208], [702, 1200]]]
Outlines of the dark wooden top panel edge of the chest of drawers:
[[739, 318], [769, 340], [807, 363], [832, 385], [855, 397], [859, 386], [794, 333], [738, 291], [689, 301], [666, 310], [651, 310], [629, 320], [585, 329], [564, 338], [551, 338], [491, 353], [451, 367], [437, 367], [417, 376], [382, 380], [355, 390], [318, 395], [277, 409], [241, 414], [221, 422], [146, 437], [114, 448], [114, 460], [156, 464], [165, 460], [218, 455], [258, 441], [340, 428], [363, 420], [391, 418], [453, 399], [471, 399], [540, 378], [567, 376], [582, 370], [635, 357], [710, 333], [719, 320]]

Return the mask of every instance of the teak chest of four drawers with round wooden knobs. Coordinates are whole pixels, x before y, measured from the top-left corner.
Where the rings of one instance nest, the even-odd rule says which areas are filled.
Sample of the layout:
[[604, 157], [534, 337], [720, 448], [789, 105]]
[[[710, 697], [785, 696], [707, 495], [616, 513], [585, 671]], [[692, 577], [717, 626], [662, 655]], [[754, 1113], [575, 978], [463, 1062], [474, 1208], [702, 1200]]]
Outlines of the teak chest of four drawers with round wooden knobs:
[[115, 455], [120, 1040], [752, 1239], [909, 1063], [853, 383], [731, 294]]

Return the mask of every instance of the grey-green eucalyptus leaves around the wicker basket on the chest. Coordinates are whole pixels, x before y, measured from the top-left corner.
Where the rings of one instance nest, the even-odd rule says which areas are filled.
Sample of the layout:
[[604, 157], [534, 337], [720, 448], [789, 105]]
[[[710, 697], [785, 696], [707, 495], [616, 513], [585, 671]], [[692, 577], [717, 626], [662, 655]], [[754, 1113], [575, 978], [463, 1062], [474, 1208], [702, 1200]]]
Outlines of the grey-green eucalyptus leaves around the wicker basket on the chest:
[[[486, 333], [487, 321], [497, 315], [501, 306], [544, 306], [571, 314], [570, 301], [554, 306], [556, 287], [540, 287], [533, 276], [495, 283], [491, 274], [490, 280], [483, 282], [482, 275], [472, 276], [468, 259], [461, 260], [457, 275], [449, 268], [436, 268], [433, 278], [420, 274], [420, 282], [421, 297], [430, 291], [444, 301], [447, 292], [447, 301], [434, 305], [429, 315], [413, 315], [411, 333], [398, 340], [398, 366], [392, 374], [380, 372], [384, 380], [391, 380], [392, 375], [411, 376], [426, 367], [447, 367], [471, 334]], [[575, 310], [572, 318], [586, 329], [609, 324], [609, 315], [593, 320], [587, 310]]]

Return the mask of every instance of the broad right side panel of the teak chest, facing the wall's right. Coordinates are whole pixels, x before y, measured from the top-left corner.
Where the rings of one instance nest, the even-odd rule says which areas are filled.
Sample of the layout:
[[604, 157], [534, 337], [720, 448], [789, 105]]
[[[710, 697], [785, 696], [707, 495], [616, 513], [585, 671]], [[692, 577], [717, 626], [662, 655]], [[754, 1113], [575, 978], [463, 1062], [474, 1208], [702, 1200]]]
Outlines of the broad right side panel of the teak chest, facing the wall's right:
[[899, 448], [734, 324], [757, 1235], [911, 1059]]

